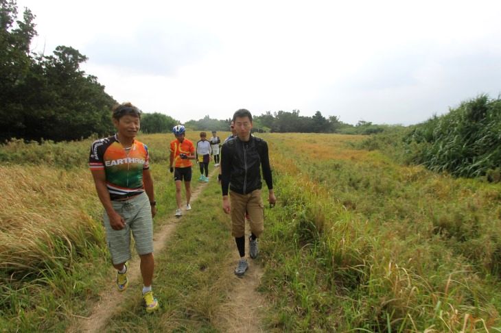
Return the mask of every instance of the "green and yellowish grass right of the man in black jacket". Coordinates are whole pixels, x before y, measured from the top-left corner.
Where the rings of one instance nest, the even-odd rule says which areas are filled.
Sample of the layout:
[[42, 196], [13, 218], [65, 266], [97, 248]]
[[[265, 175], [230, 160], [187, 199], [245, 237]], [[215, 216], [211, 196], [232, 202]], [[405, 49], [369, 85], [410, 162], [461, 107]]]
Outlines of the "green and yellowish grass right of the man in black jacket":
[[[500, 324], [500, 186], [402, 167], [375, 151], [352, 155], [342, 136], [269, 140], [281, 202], [264, 244], [271, 327], [483, 332]], [[323, 147], [297, 148], [314, 141]]]

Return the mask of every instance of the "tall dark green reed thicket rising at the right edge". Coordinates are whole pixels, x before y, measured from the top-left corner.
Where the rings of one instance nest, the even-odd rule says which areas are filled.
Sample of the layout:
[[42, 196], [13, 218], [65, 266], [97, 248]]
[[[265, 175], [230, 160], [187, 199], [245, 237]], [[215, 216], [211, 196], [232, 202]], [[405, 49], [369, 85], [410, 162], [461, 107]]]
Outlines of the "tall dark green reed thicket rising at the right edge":
[[461, 177], [501, 169], [501, 100], [481, 95], [443, 116], [417, 125], [407, 136], [412, 161]]

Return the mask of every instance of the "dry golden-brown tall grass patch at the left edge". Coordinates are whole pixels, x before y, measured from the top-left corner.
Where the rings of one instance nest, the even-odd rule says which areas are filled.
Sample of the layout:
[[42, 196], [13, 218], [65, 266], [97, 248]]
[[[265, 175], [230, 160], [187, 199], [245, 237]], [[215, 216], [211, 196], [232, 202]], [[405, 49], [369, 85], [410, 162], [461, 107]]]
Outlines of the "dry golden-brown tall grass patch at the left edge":
[[51, 260], [71, 265], [78, 247], [102, 241], [89, 171], [8, 166], [0, 167], [0, 182], [0, 269], [19, 276]]

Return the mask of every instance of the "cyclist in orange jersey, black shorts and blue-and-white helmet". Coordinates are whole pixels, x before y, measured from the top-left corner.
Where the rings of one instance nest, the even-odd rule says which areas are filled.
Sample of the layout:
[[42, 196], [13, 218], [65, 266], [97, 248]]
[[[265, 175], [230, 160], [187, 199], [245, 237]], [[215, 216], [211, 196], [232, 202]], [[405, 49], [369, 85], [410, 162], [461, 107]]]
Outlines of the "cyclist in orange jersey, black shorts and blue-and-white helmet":
[[186, 210], [190, 210], [189, 200], [191, 199], [191, 160], [195, 157], [195, 146], [185, 138], [186, 129], [183, 125], [176, 125], [172, 128], [176, 140], [170, 143], [170, 172], [174, 172], [174, 183], [176, 184], [176, 217], [183, 215], [181, 210], [181, 183], [185, 182], [186, 190]]

